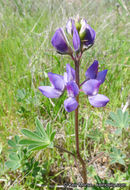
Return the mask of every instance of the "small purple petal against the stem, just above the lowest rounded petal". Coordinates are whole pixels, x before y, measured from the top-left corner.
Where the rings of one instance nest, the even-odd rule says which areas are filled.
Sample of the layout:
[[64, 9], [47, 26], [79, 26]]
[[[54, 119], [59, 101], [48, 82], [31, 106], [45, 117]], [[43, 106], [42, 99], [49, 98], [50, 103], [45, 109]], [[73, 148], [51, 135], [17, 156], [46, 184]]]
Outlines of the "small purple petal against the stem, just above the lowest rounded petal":
[[74, 81], [68, 82], [66, 88], [67, 88], [69, 97], [75, 97], [79, 93], [78, 85]]

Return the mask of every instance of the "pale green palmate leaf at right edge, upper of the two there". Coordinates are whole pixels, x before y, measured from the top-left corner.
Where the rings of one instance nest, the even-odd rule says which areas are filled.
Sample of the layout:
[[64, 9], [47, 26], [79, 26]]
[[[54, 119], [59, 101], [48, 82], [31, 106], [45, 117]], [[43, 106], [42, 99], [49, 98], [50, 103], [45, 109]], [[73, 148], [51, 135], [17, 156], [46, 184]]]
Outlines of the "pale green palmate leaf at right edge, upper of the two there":
[[130, 116], [127, 111], [123, 113], [121, 109], [118, 109], [116, 113], [110, 112], [109, 119], [106, 123], [113, 127], [125, 129], [129, 126]]

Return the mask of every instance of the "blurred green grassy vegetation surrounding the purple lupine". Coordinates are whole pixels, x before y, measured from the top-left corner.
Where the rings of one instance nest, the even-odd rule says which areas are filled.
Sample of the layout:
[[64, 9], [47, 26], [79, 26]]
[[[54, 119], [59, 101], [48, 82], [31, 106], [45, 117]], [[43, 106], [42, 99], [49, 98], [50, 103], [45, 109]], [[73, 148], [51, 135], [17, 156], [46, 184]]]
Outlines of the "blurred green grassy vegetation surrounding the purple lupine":
[[94, 176], [98, 175], [109, 183], [128, 185], [128, 124], [124, 124], [125, 119], [121, 126], [106, 120], [117, 108], [128, 109], [129, 8], [130, 2], [123, 0], [0, 0], [0, 189], [81, 182], [73, 158], [55, 148], [31, 155], [25, 148], [17, 170], [5, 165], [9, 159], [7, 141], [21, 136], [22, 128], [33, 130], [36, 117], [44, 128], [49, 123], [56, 131], [56, 144], [75, 150], [74, 113], [64, 110], [66, 95], [49, 100], [38, 87], [49, 84], [48, 72], [63, 74], [66, 63], [73, 66], [70, 57], [55, 52], [51, 38], [56, 28], [65, 27], [68, 18], [77, 14], [96, 31], [95, 45], [83, 55], [80, 80], [94, 59], [99, 61], [100, 70], [108, 69], [100, 88], [110, 99], [105, 108], [93, 108], [87, 97], [80, 95], [82, 156], [90, 162], [103, 153], [88, 167], [89, 183], [96, 183]]

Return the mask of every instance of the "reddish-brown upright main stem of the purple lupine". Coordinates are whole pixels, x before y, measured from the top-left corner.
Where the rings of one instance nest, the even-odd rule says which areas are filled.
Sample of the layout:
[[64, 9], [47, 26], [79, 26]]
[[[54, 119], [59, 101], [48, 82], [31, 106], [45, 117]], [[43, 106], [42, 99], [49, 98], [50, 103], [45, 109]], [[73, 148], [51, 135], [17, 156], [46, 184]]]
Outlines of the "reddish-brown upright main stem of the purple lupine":
[[[79, 60], [75, 60], [75, 75], [76, 75], [76, 83], [79, 86]], [[77, 102], [79, 103], [79, 95], [76, 97]], [[78, 107], [75, 110], [75, 141], [76, 141], [76, 154], [77, 158], [82, 165], [82, 177], [84, 183], [87, 183], [87, 173], [86, 173], [86, 163], [82, 159], [79, 150], [79, 122], [78, 122]]]

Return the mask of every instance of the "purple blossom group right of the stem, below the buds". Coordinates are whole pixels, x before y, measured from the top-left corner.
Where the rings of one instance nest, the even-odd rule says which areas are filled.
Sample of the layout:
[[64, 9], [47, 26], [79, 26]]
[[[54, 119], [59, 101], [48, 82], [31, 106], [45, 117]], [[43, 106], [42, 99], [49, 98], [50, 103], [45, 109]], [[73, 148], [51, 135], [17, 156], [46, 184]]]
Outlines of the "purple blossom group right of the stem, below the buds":
[[94, 107], [104, 107], [109, 99], [98, 94], [99, 87], [105, 81], [107, 70], [98, 72], [98, 61], [95, 60], [93, 64], [86, 71], [86, 80], [82, 84], [82, 91], [88, 95], [89, 102]]

